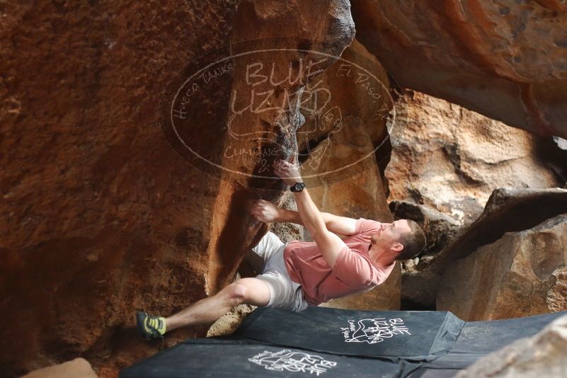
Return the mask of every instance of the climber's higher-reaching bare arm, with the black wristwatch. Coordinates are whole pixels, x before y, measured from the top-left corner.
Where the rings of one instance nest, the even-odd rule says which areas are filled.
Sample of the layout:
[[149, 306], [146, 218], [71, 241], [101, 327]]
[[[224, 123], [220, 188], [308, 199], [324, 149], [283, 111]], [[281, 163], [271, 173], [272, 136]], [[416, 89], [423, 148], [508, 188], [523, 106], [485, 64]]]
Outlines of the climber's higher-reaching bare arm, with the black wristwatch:
[[[297, 168], [287, 161], [275, 161], [274, 168], [275, 174], [282, 178], [287, 185], [294, 185], [294, 183], [302, 181]], [[328, 231], [323, 216], [313, 200], [311, 200], [307, 189], [301, 192], [294, 192], [293, 194], [302, 224], [307, 228], [317, 246], [319, 246], [319, 251], [321, 251], [323, 258], [333, 268], [340, 251], [345, 248], [346, 244], [336, 234]]]

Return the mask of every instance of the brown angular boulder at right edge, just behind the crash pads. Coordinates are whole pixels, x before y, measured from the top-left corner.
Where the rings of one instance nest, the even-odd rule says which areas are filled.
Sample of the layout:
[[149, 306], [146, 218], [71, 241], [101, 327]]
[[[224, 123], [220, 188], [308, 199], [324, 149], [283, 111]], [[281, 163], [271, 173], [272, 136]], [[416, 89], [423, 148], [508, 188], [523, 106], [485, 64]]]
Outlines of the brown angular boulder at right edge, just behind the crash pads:
[[437, 309], [466, 321], [565, 311], [566, 245], [567, 214], [507, 233], [447, 267]]

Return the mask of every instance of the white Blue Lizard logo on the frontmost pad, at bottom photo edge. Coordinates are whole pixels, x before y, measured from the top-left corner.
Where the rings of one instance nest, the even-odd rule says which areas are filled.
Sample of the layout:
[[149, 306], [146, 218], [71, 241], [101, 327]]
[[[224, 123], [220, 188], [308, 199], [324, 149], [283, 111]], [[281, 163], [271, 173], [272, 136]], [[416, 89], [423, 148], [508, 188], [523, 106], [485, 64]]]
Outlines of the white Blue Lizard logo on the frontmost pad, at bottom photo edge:
[[319, 355], [309, 355], [289, 349], [283, 349], [279, 352], [268, 352], [268, 350], [265, 350], [263, 353], [258, 353], [254, 357], [248, 358], [248, 361], [263, 366], [265, 370], [308, 372], [309, 374], [315, 374], [316, 377], [337, 365], [337, 362], [325, 360]]

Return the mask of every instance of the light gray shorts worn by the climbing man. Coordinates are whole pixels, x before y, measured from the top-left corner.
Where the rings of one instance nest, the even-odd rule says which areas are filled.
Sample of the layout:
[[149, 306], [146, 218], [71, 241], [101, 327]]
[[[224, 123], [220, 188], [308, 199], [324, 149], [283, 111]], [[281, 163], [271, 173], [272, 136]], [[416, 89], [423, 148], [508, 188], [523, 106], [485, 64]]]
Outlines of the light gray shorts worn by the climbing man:
[[[309, 302], [303, 297], [302, 286], [293, 282], [285, 268], [283, 251], [285, 244], [280, 238], [268, 231], [257, 246], [252, 248], [253, 253], [261, 258], [262, 274], [256, 278], [263, 280], [270, 288], [270, 302], [266, 306], [290, 311], [303, 311], [309, 307]], [[254, 266], [254, 265], [253, 265]]]

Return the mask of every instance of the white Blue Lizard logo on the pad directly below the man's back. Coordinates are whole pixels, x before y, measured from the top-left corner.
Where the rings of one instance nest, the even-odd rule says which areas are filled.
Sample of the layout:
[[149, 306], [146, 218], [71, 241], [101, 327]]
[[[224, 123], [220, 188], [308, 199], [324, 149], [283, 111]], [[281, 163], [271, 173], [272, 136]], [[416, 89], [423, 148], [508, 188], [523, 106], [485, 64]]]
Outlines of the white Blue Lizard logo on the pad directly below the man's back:
[[346, 343], [382, 343], [387, 338], [396, 335], [408, 335], [411, 333], [403, 323], [403, 319], [361, 319], [359, 321], [349, 320], [348, 327], [340, 328]]

